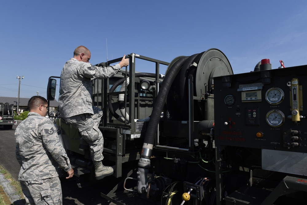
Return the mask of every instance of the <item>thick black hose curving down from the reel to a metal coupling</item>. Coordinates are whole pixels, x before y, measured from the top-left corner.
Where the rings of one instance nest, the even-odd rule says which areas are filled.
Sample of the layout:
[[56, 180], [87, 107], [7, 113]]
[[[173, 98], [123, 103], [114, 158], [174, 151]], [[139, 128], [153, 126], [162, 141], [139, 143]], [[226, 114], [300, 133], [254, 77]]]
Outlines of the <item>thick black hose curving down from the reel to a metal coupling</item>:
[[[176, 61], [163, 80], [162, 86], [157, 95], [156, 103], [151, 113], [150, 121], [149, 121], [147, 131], [145, 134], [145, 139], [144, 139], [145, 148], [147, 148], [146, 144], [149, 144], [149, 146], [153, 145], [155, 134], [157, 131], [157, 126], [158, 126], [160, 116], [161, 116], [161, 112], [164, 107], [166, 97], [169, 93], [169, 88], [172, 85], [175, 77], [177, 76], [177, 73], [181, 69], [181, 66], [187, 59], [188, 59], [188, 56], [182, 57], [178, 61]], [[143, 145], [143, 148], [144, 148], [144, 145]], [[143, 154], [144, 153], [142, 152], [141, 156], [143, 156]], [[149, 157], [149, 156], [145, 156], [145, 157]]]

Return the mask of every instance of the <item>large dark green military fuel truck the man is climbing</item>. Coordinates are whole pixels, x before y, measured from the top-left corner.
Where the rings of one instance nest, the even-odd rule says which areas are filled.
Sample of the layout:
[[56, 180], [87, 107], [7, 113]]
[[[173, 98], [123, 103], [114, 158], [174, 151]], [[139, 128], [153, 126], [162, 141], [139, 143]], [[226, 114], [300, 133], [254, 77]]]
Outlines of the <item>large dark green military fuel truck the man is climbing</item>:
[[[120, 205], [305, 204], [307, 65], [272, 69], [263, 59], [234, 74], [214, 48], [170, 62], [127, 57], [114, 77], [92, 80], [93, 106], [104, 113], [103, 164], [116, 167], [100, 180], [102, 197]], [[49, 101], [57, 78], [49, 78]], [[75, 175], [95, 183], [88, 144], [56, 117]]]

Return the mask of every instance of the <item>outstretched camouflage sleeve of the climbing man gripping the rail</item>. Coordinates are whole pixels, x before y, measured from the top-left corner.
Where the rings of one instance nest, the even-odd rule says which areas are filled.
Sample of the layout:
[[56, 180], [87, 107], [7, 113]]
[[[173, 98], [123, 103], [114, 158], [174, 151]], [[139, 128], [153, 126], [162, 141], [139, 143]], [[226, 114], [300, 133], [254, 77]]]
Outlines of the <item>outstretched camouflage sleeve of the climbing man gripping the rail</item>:
[[119, 64], [108, 67], [97, 67], [90, 63], [80, 62], [80, 74], [87, 78], [102, 79], [114, 76], [121, 70]]

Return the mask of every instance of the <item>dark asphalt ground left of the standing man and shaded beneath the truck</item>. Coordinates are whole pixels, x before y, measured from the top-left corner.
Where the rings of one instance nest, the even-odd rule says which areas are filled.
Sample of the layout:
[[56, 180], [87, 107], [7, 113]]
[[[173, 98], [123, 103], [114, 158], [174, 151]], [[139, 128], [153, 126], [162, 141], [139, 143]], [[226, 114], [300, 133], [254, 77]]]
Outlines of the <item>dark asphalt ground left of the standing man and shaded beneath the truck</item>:
[[[17, 121], [17, 125], [21, 121]], [[0, 164], [7, 170], [13, 179], [18, 181], [18, 173], [20, 170], [20, 165], [17, 162], [15, 156], [15, 128], [17, 125], [13, 126], [11, 130], [4, 130], [0, 128]], [[107, 180], [99, 180], [98, 183], [83, 183], [82, 187], [78, 187], [77, 183], [80, 182], [79, 178], [73, 177], [72, 179], [61, 179], [62, 193], [63, 193], [63, 204], [67, 205], [104, 205], [114, 203], [109, 202], [107, 199], [101, 197], [101, 192], [105, 190], [108, 184]], [[17, 202], [17, 201], [16, 201]]]

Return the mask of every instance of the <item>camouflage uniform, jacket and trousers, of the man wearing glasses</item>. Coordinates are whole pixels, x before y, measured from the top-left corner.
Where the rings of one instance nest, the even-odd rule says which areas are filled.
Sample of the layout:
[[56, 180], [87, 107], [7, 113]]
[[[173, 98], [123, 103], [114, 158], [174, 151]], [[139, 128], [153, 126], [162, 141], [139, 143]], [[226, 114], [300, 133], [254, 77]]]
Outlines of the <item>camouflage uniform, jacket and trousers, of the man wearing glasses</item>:
[[72, 167], [51, 120], [29, 112], [15, 131], [18, 179], [26, 204], [62, 204], [57, 167]]

